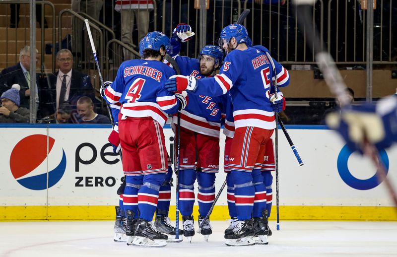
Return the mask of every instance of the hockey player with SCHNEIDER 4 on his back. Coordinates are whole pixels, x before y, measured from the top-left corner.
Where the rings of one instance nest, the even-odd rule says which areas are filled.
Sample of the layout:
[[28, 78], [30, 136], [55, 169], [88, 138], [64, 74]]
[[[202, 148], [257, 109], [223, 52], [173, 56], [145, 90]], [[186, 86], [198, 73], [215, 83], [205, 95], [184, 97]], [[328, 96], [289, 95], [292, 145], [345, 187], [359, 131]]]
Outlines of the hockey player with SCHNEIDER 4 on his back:
[[182, 95], [164, 87], [166, 79], [175, 74], [162, 63], [171, 52], [167, 36], [148, 33], [139, 43], [142, 59], [121, 64], [115, 81], [105, 89], [116, 125], [109, 141], [116, 147], [120, 144], [123, 151], [128, 245], [162, 247], [168, 238], [151, 220], [168, 170], [162, 127], [167, 114], [186, 106]]

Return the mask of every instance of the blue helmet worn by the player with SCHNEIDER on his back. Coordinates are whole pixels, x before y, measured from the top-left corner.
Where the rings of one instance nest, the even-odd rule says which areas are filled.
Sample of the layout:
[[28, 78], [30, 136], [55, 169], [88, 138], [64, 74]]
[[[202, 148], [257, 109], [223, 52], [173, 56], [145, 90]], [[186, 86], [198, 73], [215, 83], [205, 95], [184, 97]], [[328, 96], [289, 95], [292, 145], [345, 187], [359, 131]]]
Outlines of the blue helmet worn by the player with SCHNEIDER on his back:
[[169, 37], [160, 31], [149, 32], [139, 42], [139, 55], [143, 56], [143, 51], [146, 49], [159, 51], [161, 46], [164, 46], [167, 54], [172, 54], [171, 40]]

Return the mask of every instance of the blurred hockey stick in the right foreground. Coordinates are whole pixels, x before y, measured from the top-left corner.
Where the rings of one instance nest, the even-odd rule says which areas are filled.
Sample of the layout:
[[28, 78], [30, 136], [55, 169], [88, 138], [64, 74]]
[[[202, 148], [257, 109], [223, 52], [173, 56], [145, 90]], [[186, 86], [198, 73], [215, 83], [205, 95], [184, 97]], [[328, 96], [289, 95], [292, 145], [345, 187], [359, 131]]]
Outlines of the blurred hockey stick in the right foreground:
[[[315, 55], [316, 62], [323, 72], [325, 81], [330, 88], [331, 93], [336, 96], [342, 107], [347, 107], [350, 105], [350, 101], [346, 92], [346, 85], [331, 57], [331, 54], [329, 54], [322, 48], [322, 45], [320, 44], [320, 42], [322, 42], [322, 39], [319, 37], [317, 28], [315, 28], [312, 23], [312, 7], [316, 1], [317, 0], [294, 1], [296, 13], [300, 14], [297, 17], [298, 23], [301, 28], [304, 28], [302, 30], [304, 32], [302, 33], [304, 33], [304, 36], [306, 36], [306, 38], [308, 39], [306, 42], [309, 44], [309, 47]], [[385, 165], [379, 156], [378, 150], [366, 139], [364, 139], [363, 143], [361, 144], [361, 149], [363, 153], [365, 153], [365, 155], [370, 157], [374, 165], [377, 167], [376, 176], [378, 177], [378, 180], [383, 180], [385, 182], [390, 196], [392, 197], [394, 204], [397, 206], [397, 193], [394, 190], [394, 187], [391, 184], [390, 180], [387, 178]]]

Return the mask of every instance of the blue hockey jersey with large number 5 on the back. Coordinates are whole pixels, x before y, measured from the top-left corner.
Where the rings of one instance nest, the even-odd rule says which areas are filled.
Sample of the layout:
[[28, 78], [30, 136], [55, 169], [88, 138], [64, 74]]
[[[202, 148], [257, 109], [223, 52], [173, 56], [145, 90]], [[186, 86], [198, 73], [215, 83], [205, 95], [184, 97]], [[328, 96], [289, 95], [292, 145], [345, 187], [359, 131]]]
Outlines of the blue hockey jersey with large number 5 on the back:
[[[230, 52], [213, 78], [197, 80], [194, 95], [219, 96], [230, 90], [233, 118], [236, 128], [275, 128], [274, 113], [269, 102], [269, 91], [274, 72], [263, 46]], [[289, 73], [273, 59], [277, 85], [289, 84]]]

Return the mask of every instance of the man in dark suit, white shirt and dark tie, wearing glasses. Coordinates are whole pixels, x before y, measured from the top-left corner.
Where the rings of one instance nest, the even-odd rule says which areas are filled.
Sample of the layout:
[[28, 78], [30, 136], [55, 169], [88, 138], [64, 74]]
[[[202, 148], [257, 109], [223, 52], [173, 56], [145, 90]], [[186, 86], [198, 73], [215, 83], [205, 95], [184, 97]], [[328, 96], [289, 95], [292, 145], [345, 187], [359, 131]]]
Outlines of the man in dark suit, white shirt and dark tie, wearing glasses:
[[75, 106], [81, 96], [95, 98], [90, 77], [73, 69], [73, 56], [68, 49], [61, 49], [56, 56], [59, 70], [49, 75], [47, 111], [54, 114], [59, 106], [68, 101]]

